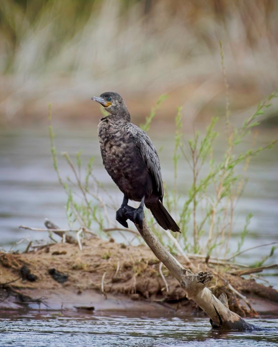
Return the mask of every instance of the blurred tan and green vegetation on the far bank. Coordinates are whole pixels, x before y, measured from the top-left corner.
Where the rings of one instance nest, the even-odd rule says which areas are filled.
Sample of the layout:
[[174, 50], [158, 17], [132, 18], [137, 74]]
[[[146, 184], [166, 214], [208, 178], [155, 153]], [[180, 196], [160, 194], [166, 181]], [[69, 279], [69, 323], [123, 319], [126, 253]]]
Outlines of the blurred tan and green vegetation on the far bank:
[[[158, 96], [159, 120], [183, 106], [184, 124], [223, 116], [223, 43], [236, 122], [277, 87], [277, 0], [1, 0], [0, 121], [97, 122], [90, 97], [122, 94], [134, 122]], [[267, 113], [277, 126], [277, 104]]]

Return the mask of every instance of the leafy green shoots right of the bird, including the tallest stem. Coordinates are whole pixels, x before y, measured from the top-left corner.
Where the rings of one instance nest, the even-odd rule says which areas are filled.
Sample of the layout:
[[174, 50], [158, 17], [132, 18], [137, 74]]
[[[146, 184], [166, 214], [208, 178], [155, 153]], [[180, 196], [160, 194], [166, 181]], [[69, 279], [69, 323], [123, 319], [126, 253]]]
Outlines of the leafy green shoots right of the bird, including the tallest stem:
[[[223, 51], [221, 48], [221, 64], [226, 86], [226, 137], [227, 147], [223, 159], [216, 161], [214, 155], [214, 143], [219, 133], [215, 131], [218, 118], [212, 118], [206, 133], [201, 138], [197, 131], [193, 139], [185, 143], [182, 140], [181, 110], [176, 117], [174, 162], [174, 189], [172, 195], [167, 196], [167, 207], [174, 212], [181, 195], [177, 193], [176, 179], [177, 166], [181, 164], [179, 154], [183, 155], [191, 167], [193, 183], [188, 191], [188, 198], [182, 202], [179, 214], [179, 226], [181, 235], [179, 238], [186, 251], [211, 255], [217, 249], [218, 253], [227, 255], [230, 251], [229, 240], [234, 226], [235, 205], [243, 193], [247, 179], [238, 174], [238, 169], [244, 164], [246, 171], [250, 158], [265, 149], [271, 149], [278, 140], [270, 142], [264, 147], [249, 149], [238, 154], [238, 146], [243, 139], [251, 133], [251, 128], [260, 124], [258, 117], [263, 115], [265, 109], [270, 107], [270, 101], [277, 97], [277, 91], [273, 92], [264, 102], [260, 102], [254, 114], [244, 121], [241, 127], [234, 127], [230, 122], [230, 110], [228, 100], [228, 83], [226, 69], [224, 68]], [[186, 153], [189, 152], [189, 155]], [[248, 232], [248, 224], [252, 215], [246, 218], [246, 224], [242, 229], [238, 249], [242, 248]], [[193, 223], [193, 242], [188, 243], [188, 230]], [[207, 232], [206, 232], [207, 231]]]

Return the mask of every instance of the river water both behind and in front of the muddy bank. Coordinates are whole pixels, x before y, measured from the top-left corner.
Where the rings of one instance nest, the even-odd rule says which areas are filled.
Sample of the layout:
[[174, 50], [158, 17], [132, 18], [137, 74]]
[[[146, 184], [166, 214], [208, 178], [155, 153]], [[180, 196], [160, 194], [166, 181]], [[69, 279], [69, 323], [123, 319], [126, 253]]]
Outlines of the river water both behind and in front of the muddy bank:
[[[106, 174], [100, 158], [99, 144], [93, 130], [64, 130], [56, 138], [57, 152], [75, 155], [83, 149], [84, 161], [94, 155], [94, 174], [111, 193], [116, 205], [122, 194]], [[273, 134], [265, 134], [265, 144]], [[274, 134], [275, 135], [275, 134]], [[164, 182], [171, 186], [173, 180], [172, 135], [151, 134], [160, 154]], [[215, 149], [221, 154], [221, 146]], [[65, 160], [59, 158], [62, 177], [69, 174]], [[178, 182], [182, 198], [186, 198], [192, 178], [189, 166], [179, 168]], [[265, 151], [255, 157], [248, 168], [248, 183], [242, 199], [237, 204], [234, 235], [231, 248], [237, 247], [240, 230], [246, 214], [254, 217], [244, 248], [278, 242], [278, 163], [277, 149]], [[19, 225], [43, 227], [49, 218], [61, 228], [67, 228], [65, 212], [66, 195], [57, 182], [53, 169], [47, 127], [36, 130], [2, 132], [0, 136], [0, 247], [6, 250], [24, 249], [29, 239], [47, 239], [47, 232], [18, 229]], [[110, 212], [109, 212], [110, 213]], [[114, 219], [115, 211], [111, 211]], [[117, 240], [122, 242], [121, 236]], [[270, 251], [270, 246], [255, 248], [243, 253], [238, 262], [252, 264]], [[266, 264], [278, 262], [277, 253]], [[278, 288], [277, 269], [266, 271], [267, 285]], [[277, 319], [257, 319], [249, 322], [264, 328], [276, 328]], [[40, 329], [17, 331], [17, 329]], [[6, 330], [7, 329], [7, 330]], [[212, 331], [208, 319], [177, 318], [141, 315], [94, 313], [93, 315], [66, 316], [64, 314], [38, 314], [20, 312], [0, 313], [0, 346], [278, 346], [277, 330], [254, 333], [221, 333]], [[9, 331], [12, 330], [12, 331]], [[47, 341], [46, 341], [47, 340]]]

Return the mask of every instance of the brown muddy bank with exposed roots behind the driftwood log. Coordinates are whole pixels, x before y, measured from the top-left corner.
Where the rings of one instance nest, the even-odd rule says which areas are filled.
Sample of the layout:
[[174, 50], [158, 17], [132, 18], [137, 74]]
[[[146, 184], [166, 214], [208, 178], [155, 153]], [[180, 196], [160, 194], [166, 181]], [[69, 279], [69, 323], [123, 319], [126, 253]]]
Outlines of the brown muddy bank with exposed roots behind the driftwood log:
[[[182, 257], [179, 262], [187, 268]], [[278, 291], [232, 274], [227, 266], [195, 261], [211, 271], [213, 294], [227, 294], [229, 307], [241, 316], [278, 315]], [[144, 245], [126, 246], [96, 237], [75, 244], [58, 243], [36, 252], [0, 253], [0, 307], [52, 310], [113, 310], [202, 314], [179, 283]], [[166, 283], [167, 286], [166, 286]], [[9, 283], [10, 282], [10, 283]], [[228, 288], [247, 296], [254, 311]]]

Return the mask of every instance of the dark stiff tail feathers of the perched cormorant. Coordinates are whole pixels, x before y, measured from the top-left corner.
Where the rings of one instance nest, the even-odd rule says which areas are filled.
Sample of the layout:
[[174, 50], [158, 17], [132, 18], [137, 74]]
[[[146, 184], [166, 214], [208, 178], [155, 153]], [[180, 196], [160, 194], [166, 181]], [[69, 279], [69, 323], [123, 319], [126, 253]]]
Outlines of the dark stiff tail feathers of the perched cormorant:
[[150, 209], [157, 223], [165, 230], [180, 232], [180, 228], [173, 220], [170, 213], [165, 209], [160, 200], [152, 201], [151, 204], [146, 204], [146, 208]]

